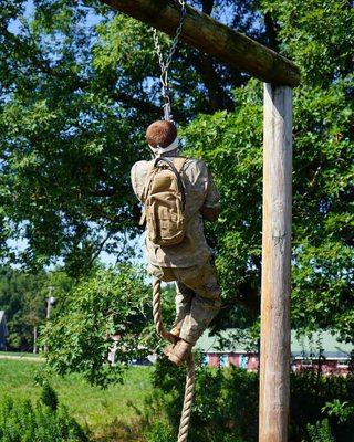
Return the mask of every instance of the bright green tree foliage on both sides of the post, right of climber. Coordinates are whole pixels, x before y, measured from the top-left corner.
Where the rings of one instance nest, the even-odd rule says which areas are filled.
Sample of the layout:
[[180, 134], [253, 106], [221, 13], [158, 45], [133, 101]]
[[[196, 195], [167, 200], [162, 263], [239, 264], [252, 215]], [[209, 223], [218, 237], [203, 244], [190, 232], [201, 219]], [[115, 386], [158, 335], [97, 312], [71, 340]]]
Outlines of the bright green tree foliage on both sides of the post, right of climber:
[[[353, 340], [353, 8], [346, 2], [263, 2], [279, 23], [282, 51], [302, 70], [294, 91], [294, 327], [332, 328]], [[331, 24], [331, 33], [326, 27]], [[227, 306], [242, 325], [258, 313], [261, 271], [261, 87], [235, 91], [236, 110], [200, 116], [185, 131], [222, 193], [210, 227]], [[225, 171], [228, 170], [228, 173]], [[230, 311], [219, 317], [227, 322]], [[254, 318], [254, 316], [253, 316]], [[221, 326], [222, 326], [221, 325]]]

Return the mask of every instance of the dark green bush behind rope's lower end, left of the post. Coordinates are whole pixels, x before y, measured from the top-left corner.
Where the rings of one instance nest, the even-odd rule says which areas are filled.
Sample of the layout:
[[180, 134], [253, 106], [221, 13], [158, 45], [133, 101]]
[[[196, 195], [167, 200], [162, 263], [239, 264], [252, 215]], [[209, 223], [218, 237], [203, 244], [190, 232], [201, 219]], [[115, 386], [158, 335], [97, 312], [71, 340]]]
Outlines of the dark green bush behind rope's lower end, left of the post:
[[[162, 360], [154, 373], [155, 391], [146, 401], [146, 421], [163, 439], [156, 420], [167, 418], [170, 439], [177, 439], [184, 400], [185, 369]], [[165, 417], [162, 413], [165, 412]], [[200, 368], [188, 441], [256, 442], [258, 427], [258, 376], [243, 369]], [[159, 439], [148, 439], [148, 442]]]

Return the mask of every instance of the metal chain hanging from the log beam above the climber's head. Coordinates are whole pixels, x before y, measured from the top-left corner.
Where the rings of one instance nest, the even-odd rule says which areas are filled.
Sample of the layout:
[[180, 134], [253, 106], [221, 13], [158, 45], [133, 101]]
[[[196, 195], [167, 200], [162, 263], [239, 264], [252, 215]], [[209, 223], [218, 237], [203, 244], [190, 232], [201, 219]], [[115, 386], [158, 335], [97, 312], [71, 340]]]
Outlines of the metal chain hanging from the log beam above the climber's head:
[[179, 38], [181, 34], [181, 30], [184, 28], [184, 23], [185, 23], [185, 19], [186, 19], [186, 14], [187, 14], [187, 9], [186, 9], [186, 1], [185, 0], [178, 0], [178, 3], [181, 7], [180, 10], [180, 19], [179, 19], [179, 23], [176, 30], [176, 35], [169, 46], [169, 51], [167, 53], [166, 56], [166, 61], [164, 61], [164, 54], [163, 54], [163, 49], [157, 35], [157, 30], [154, 28], [153, 29], [153, 39], [154, 39], [154, 46], [155, 46], [155, 52], [156, 55], [158, 57], [158, 64], [159, 67], [162, 70], [162, 74], [160, 74], [160, 83], [163, 86], [163, 98], [164, 98], [164, 118], [167, 120], [171, 120], [173, 119], [173, 115], [171, 115], [171, 106], [170, 106], [170, 97], [169, 97], [169, 83], [168, 83], [168, 69], [169, 65], [173, 61], [173, 57], [175, 55], [178, 42], [179, 42]]

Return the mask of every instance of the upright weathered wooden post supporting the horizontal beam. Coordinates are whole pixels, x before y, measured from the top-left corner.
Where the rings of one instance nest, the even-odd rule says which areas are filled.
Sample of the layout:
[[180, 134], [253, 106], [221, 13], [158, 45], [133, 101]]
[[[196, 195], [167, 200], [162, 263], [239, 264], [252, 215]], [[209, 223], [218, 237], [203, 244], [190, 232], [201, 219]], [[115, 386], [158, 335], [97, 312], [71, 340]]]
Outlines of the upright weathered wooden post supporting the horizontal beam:
[[292, 88], [264, 84], [259, 441], [288, 442]]

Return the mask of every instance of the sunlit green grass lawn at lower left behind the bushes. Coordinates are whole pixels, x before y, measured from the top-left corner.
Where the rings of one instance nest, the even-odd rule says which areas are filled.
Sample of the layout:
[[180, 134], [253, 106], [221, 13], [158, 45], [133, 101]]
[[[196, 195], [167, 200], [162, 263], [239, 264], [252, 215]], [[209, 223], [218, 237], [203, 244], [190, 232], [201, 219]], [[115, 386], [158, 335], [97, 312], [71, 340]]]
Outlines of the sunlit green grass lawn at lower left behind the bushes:
[[[7, 394], [14, 399], [27, 398], [35, 401], [41, 393], [41, 387], [37, 386], [33, 379], [40, 369], [41, 364], [35, 361], [0, 359], [0, 398]], [[152, 389], [152, 370], [150, 367], [131, 367], [125, 382], [107, 390], [91, 387], [75, 375], [52, 377], [50, 383], [58, 392], [60, 403], [100, 439], [115, 425], [127, 429], [134, 427], [137, 420], [135, 408], [143, 408], [144, 397]], [[134, 407], [129, 406], [129, 402]]]

